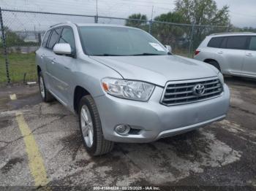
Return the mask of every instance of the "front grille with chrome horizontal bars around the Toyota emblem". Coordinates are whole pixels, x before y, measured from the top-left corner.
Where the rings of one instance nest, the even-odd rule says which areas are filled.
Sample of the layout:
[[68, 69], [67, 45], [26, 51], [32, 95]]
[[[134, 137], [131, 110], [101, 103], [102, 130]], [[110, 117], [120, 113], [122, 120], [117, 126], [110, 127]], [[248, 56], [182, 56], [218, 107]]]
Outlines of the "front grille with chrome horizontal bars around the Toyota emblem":
[[[195, 95], [194, 87], [196, 85], [203, 85], [205, 87], [205, 91], [202, 95]], [[189, 104], [215, 98], [221, 95], [222, 92], [222, 83], [218, 78], [169, 82], [165, 87], [165, 93], [162, 96], [161, 103], [167, 106]]]

